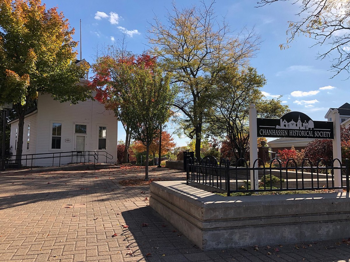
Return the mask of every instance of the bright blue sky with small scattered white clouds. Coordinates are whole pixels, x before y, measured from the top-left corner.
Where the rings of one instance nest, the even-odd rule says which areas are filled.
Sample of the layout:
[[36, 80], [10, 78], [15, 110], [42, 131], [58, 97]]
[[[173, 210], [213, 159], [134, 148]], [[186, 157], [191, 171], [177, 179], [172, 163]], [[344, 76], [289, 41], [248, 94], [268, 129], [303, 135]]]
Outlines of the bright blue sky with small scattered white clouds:
[[[82, 20], [82, 56], [90, 63], [94, 62], [97, 45], [113, 44], [123, 34], [126, 34], [128, 50], [134, 53], [147, 50], [148, 23], [152, 23], [155, 15], [164, 21], [166, 9], [172, 8], [172, 1], [156, 0], [46, 0], [43, 3], [47, 8], [58, 6], [76, 28], [76, 41], [79, 41], [79, 19]], [[175, 3], [178, 7], [200, 5], [197, 0], [176, 0]], [[331, 57], [316, 59], [317, 53], [328, 50], [329, 46], [311, 47], [315, 43], [313, 39], [300, 36], [289, 49], [280, 50], [279, 44], [286, 41], [288, 21], [298, 19], [294, 15], [299, 9], [297, 5], [278, 2], [255, 8], [256, 0], [220, 0], [214, 6], [218, 20], [225, 16], [231, 29], [239, 31], [243, 27], [255, 27], [260, 35], [260, 51], [251, 59], [251, 65], [265, 75], [267, 84], [262, 91], [268, 98], [283, 95], [283, 103], [292, 111], [304, 112], [314, 120], [325, 120], [324, 115], [330, 107], [350, 102], [348, 75], [340, 74], [330, 79], [333, 75], [328, 71]], [[125, 139], [123, 127], [119, 124], [118, 128], [118, 140]], [[178, 146], [183, 146], [188, 139], [175, 137], [175, 141]]]

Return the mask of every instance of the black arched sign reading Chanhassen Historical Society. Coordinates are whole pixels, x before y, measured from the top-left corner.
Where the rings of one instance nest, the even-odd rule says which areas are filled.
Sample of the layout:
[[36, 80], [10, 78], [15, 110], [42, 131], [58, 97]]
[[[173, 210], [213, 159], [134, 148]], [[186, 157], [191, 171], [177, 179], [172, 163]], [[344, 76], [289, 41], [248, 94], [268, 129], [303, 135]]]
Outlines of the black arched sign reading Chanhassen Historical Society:
[[257, 118], [258, 137], [334, 139], [333, 122], [313, 121], [302, 112], [289, 112], [280, 119]]

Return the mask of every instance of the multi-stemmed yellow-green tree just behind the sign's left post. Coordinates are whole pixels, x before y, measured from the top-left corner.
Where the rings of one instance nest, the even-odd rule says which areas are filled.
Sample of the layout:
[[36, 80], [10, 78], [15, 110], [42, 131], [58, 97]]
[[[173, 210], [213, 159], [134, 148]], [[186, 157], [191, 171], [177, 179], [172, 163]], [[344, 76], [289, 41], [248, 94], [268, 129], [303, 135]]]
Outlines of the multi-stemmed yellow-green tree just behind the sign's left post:
[[260, 88], [266, 80], [255, 68], [239, 70], [227, 66], [216, 81], [220, 94], [210, 119], [213, 136], [227, 137], [236, 159], [246, 158], [249, 143], [249, 108], [257, 106], [258, 117], [274, 118], [288, 111], [279, 99], [265, 99]]

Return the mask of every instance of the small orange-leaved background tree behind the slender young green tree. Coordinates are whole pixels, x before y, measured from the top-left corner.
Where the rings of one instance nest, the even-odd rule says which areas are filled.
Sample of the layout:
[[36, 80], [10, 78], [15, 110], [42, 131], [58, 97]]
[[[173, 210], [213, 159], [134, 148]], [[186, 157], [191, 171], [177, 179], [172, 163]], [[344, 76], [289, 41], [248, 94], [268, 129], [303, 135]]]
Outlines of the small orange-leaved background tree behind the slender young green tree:
[[[176, 144], [174, 143], [174, 138], [170, 136], [170, 134], [167, 131], [162, 131], [162, 148], [161, 148], [161, 154], [164, 155], [168, 153], [170, 150], [172, 150]], [[135, 141], [135, 151], [137, 152], [144, 152], [147, 150], [146, 146], [142, 144], [141, 141]], [[149, 145], [149, 151], [153, 154], [153, 166], [155, 165], [154, 159], [155, 154], [159, 153], [159, 137], [156, 137], [153, 139], [151, 145]], [[158, 156], [160, 159], [160, 155]]]

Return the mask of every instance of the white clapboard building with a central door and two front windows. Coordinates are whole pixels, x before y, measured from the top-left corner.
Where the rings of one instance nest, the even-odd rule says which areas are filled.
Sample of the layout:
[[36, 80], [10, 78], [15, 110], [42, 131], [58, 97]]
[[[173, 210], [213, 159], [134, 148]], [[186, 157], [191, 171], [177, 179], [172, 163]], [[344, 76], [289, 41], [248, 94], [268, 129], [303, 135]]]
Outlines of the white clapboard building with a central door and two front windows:
[[[10, 122], [10, 152], [13, 155], [16, 154], [18, 122], [18, 119]], [[116, 161], [117, 131], [114, 112], [106, 110], [98, 101], [60, 103], [49, 94], [39, 94], [37, 108], [25, 116], [22, 165], [56, 166], [76, 161]], [[62, 153], [71, 151], [78, 152]], [[33, 162], [31, 154], [35, 154]], [[70, 157], [63, 157], [68, 155]], [[52, 156], [55, 158], [52, 159]]]

